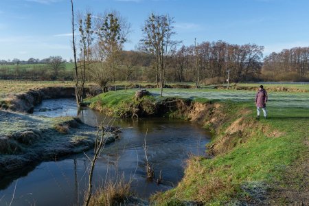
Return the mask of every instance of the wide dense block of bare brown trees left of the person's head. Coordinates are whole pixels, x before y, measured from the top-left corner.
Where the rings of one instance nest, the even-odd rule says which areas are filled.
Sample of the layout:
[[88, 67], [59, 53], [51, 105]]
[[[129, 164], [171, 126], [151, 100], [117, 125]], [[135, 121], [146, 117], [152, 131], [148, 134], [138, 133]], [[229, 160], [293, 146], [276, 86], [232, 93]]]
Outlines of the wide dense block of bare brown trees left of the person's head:
[[227, 77], [234, 82], [253, 80], [262, 67], [264, 47], [255, 44], [231, 45], [223, 41], [181, 47], [170, 58], [170, 81], [196, 82]]

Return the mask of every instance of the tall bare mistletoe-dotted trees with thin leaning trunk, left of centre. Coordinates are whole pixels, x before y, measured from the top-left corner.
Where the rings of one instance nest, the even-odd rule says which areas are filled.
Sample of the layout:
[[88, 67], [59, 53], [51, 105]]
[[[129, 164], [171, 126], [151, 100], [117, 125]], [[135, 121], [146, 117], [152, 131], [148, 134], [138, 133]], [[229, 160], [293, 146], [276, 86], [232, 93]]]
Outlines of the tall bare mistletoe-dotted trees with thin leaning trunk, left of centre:
[[76, 101], [80, 104], [88, 78], [97, 82], [104, 91], [109, 81], [115, 82], [119, 54], [128, 40], [130, 25], [115, 11], [96, 15], [79, 13], [76, 23], [73, 0], [71, 12]]

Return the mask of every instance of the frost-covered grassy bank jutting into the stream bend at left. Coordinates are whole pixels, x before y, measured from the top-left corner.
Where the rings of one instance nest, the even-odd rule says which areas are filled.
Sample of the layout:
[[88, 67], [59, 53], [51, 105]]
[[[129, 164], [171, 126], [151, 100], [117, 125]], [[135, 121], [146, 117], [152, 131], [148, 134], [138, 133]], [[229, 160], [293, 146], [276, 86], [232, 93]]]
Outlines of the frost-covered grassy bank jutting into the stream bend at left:
[[[65, 132], [57, 130], [65, 127]], [[95, 128], [72, 117], [38, 117], [0, 110], [0, 176], [25, 165], [89, 150]]]

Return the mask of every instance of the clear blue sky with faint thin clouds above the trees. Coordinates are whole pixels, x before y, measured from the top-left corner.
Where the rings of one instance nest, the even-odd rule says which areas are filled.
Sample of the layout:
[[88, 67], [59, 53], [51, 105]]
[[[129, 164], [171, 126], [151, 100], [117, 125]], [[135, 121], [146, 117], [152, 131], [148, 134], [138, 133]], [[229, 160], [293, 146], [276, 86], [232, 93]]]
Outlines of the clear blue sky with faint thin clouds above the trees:
[[[175, 38], [264, 45], [264, 55], [309, 46], [307, 0], [74, 0], [75, 10], [117, 10], [132, 25], [134, 49], [151, 12], [174, 16]], [[47, 58], [71, 52], [70, 0], [0, 0], [0, 59]]]

